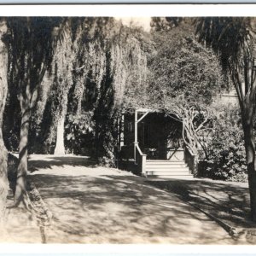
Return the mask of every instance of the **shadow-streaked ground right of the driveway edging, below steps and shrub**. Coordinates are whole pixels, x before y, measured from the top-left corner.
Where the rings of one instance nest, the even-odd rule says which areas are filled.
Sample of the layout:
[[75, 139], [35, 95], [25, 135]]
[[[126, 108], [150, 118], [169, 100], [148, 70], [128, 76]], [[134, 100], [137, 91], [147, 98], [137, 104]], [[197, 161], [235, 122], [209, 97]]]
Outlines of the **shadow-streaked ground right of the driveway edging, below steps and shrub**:
[[250, 220], [250, 204], [247, 188], [236, 184], [214, 183], [204, 180], [147, 181], [172, 192], [183, 201], [199, 207], [237, 228], [255, 228]]

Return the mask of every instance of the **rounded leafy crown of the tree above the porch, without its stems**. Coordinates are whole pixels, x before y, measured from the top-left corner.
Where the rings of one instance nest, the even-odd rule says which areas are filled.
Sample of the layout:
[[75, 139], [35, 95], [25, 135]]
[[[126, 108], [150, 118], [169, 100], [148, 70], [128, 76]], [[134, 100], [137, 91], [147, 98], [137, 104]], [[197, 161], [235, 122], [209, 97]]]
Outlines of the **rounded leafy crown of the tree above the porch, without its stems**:
[[189, 26], [174, 28], [158, 38], [162, 42], [150, 67], [154, 72], [152, 89], [161, 92], [162, 104], [180, 96], [186, 102], [211, 102], [222, 83], [217, 57], [197, 43]]

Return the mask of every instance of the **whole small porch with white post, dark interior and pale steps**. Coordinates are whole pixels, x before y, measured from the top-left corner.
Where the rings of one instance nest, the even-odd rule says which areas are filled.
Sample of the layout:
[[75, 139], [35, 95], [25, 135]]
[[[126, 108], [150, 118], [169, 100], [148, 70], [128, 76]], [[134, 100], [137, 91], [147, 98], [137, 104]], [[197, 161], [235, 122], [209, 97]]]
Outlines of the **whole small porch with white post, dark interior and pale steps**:
[[192, 177], [195, 156], [184, 147], [182, 120], [160, 111], [135, 109], [120, 122], [119, 161], [145, 177]]

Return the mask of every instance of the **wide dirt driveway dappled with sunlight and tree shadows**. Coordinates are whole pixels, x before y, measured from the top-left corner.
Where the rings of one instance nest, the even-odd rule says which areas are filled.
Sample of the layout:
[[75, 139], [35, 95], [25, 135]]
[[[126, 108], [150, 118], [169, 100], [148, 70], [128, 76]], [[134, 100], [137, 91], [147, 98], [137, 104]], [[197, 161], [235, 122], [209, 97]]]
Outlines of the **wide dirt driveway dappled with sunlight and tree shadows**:
[[30, 180], [54, 215], [45, 228], [47, 242], [236, 243], [206, 215], [143, 177], [85, 162], [49, 156], [40, 168], [30, 160], [38, 165]]

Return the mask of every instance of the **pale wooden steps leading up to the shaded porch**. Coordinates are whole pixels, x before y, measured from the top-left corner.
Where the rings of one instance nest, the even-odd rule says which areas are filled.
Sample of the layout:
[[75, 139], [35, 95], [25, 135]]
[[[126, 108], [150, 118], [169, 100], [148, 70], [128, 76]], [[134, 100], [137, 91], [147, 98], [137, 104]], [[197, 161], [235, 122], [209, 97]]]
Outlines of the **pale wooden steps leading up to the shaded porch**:
[[193, 174], [183, 160], [147, 160], [147, 177], [191, 178]]

